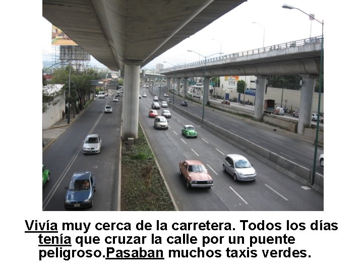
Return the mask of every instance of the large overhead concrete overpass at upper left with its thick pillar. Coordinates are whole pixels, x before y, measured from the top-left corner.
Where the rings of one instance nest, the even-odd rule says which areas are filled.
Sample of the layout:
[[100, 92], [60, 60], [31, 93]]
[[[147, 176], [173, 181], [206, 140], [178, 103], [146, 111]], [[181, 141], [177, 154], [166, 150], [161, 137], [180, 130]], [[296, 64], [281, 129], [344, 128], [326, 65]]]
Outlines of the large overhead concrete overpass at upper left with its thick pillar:
[[43, 17], [110, 70], [125, 70], [122, 138], [137, 139], [140, 66], [247, 0], [43, 0]]

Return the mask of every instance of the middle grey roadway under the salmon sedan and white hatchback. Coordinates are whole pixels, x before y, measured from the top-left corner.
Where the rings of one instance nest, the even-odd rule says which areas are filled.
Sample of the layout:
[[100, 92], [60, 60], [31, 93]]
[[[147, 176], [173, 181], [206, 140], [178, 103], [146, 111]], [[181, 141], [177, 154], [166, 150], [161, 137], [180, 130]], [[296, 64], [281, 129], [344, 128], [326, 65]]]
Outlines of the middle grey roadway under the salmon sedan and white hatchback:
[[[162, 173], [181, 211], [322, 211], [323, 196], [282, 174], [264, 162], [235, 147], [226, 139], [198, 126], [193, 120], [169, 108], [172, 117], [167, 130], [153, 127], [148, 117], [153, 94], [146, 93], [139, 107], [139, 121], [159, 162]], [[154, 92], [156, 93], [156, 92]], [[163, 93], [163, 91], [161, 92]], [[176, 103], [175, 103], [176, 104]], [[188, 106], [188, 110], [192, 107]], [[161, 114], [161, 109], [158, 110]], [[198, 130], [197, 139], [186, 139], [181, 127], [192, 124]], [[226, 154], [237, 153], [249, 158], [257, 171], [254, 182], [234, 182], [222, 171]], [[179, 175], [178, 163], [185, 159], [201, 160], [211, 174], [214, 185], [208, 188], [187, 189]]]

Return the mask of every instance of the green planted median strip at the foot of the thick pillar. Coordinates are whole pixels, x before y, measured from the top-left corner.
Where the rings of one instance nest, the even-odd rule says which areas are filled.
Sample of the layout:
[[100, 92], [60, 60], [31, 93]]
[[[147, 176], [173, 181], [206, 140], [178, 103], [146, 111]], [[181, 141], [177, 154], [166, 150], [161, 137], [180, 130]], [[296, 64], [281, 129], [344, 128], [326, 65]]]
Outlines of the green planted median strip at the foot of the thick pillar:
[[134, 145], [122, 145], [121, 211], [174, 211], [154, 154], [139, 124]]

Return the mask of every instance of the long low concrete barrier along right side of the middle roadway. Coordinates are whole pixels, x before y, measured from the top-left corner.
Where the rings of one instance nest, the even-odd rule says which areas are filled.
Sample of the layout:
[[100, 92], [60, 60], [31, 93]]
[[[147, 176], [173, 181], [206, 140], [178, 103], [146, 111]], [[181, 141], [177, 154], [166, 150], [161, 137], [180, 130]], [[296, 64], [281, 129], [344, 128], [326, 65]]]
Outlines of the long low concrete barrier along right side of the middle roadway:
[[[202, 123], [202, 118], [198, 117], [184, 109], [179, 107], [174, 107], [172, 104], [169, 105], [173, 110], [188, 116], [196, 122]], [[293, 123], [294, 124], [294, 123]], [[233, 141], [240, 149], [251, 153], [255, 157], [259, 158], [261, 161], [267, 163], [268, 165], [274, 167], [280, 172], [286, 174], [287, 176], [293, 178], [303, 185], [309, 185], [311, 182], [312, 171], [306, 167], [300, 166], [292, 161], [289, 161], [276, 153], [273, 153], [265, 148], [262, 148], [255, 143], [248, 141], [228, 130], [225, 130], [209, 121], [203, 121], [203, 127], [210, 130], [211, 132], [218, 134], [222, 138], [227, 138]], [[312, 187], [320, 194], [324, 194], [324, 176], [316, 173], [315, 183]]]

